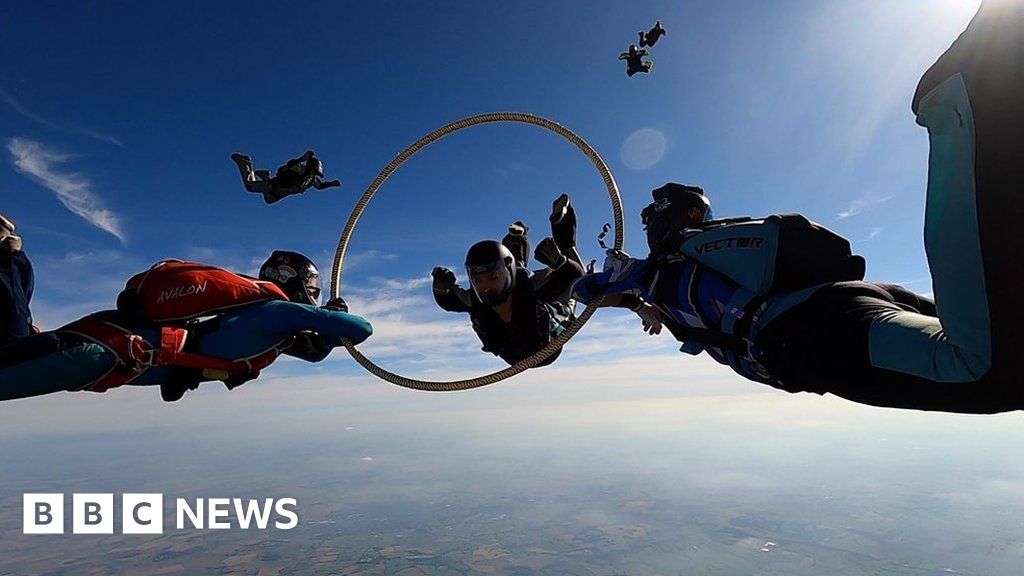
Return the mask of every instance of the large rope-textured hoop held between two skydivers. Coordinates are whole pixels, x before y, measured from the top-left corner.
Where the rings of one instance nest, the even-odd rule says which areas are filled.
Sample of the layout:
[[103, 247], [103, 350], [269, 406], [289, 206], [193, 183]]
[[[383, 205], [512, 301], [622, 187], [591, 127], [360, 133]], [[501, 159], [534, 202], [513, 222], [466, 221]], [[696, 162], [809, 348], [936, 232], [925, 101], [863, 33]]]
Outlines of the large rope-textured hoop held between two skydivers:
[[[341, 240], [338, 242], [338, 251], [335, 253], [334, 256], [334, 269], [331, 272], [332, 297], [338, 295], [338, 292], [341, 287], [341, 275], [345, 260], [345, 250], [348, 248], [348, 242], [352, 237], [352, 233], [355, 231], [355, 225], [359, 222], [359, 217], [362, 216], [364, 210], [366, 210], [367, 206], [370, 205], [370, 201], [373, 200], [374, 195], [377, 194], [377, 191], [384, 183], [384, 181], [387, 180], [392, 173], [394, 173], [394, 171], [398, 168], [398, 166], [401, 166], [403, 162], [409, 160], [417, 152], [420, 152], [421, 150], [426, 148], [427, 145], [439, 140], [440, 138], [453, 132], [462, 130], [463, 128], [468, 128], [470, 126], [475, 126], [477, 124], [486, 124], [492, 122], [519, 122], [523, 124], [532, 124], [535, 126], [547, 128], [548, 130], [555, 132], [556, 134], [569, 140], [570, 142], [575, 145], [577, 148], [583, 151], [583, 153], [586, 154], [588, 158], [590, 158], [591, 162], [593, 162], [594, 166], [601, 173], [601, 177], [604, 179], [604, 186], [608, 189], [608, 197], [611, 199], [611, 209], [614, 212], [614, 221], [615, 221], [614, 247], [617, 250], [622, 250], [623, 244], [625, 242], [626, 231], [623, 222], [623, 205], [621, 199], [618, 198], [618, 184], [615, 183], [614, 176], [611, 175], [611, 171], [608, 170], [607, 165], [605, 165], [604, 160], [601, 159], [600, 155], [597, 154], [597, 151], [595, 151], [589, 143], [587, 143], [586, 140], [578, 136], [568, 128], [565, 128], [561, 124], [557, 124], [546, 118], [541, 118], [540, 116], [534, 116], [531, 114], [522, 114], [516, 112], [497, 112], [492, 114], [481, 114], [478, 116], [471, 116], [469, 118], [464, 118], [462, 120], [453, 122], [446, 126], [438, 128], [433, 132], [430, 132], [426, 136], [417, 140], [416, 143], [402, 151], [401, 154], [396, 156], [395, 159], [392, 160], [390, 164], [385, 166], [384, 169], [381, 170], [379, 174], [377, 174], [377, 177], [374, 179], [373, 183], [371, 183], [370, 188], [368, 188], [367, 191], [362, 193], [362, 197], [359, 198], [359, 201], [355, 203], [355, 208], [352, 209], [352, 214], [348, 217], [348, 223], [345, 224], [345, 230], [341, 234]], [[514, 376], [519, 372], [522, 372], [523, 370], [532, 368], [538, 364], [540, 364], [541, 362], [545, 361], [549, 356], [551, 356], [556, 351], [561, 348], [565, 344], [565, 342], [569, 340], [569, 338], [571, 338], [577, 332], [580, 331], [580, 328], [582, 328], [583, 325], [590, 319], [590, 317], [593, 316], [594, 312], [597, 311], [597, 307], [600, 305], [600, 303], [601, 299], [596, 299], [591, 301], [590, 304], [587, 305], [587, 308], [583, 312], [583, 314], [581, 314], [573, 322], [569, 323], [569, 325], [565, 328], [565, 330], [561, 334], [558, 335], [557, 338], [549, 342], [546, 346], [544, 346], [540, 351], [534, 353], [534, 355], [520, 360], [519, 362], [513, 364], [512, 366], [504, 370], [500, 370], [498, 372], [494, 372], [483, 376], [478, 376], [476, 378], [470, 378], [468, 380], [435, 382], [427, 380], [417, 380], [415, 378], [407, 378], [404, 376], [395, 374], [393, 372], [389, 372], [384, 368], [381, 368], [380, 366], [374, 364], [372, 360], [364, 356], [361, 353], [359, 353], [359, 351], [355, 349], [355, 344], [353, 344], [350, 340], [342, 339], [342, 343], [348, 349], [348, 353], [352, 355], [352, 358], [355, 359], [355, 361], [358, 362], [364, 368], [372, 372], [377, 377], [387, 380], [388, 382], [391, 382], [393, 384], [397, 384], [399, 386], [403, 386], [407, 388], [428, 390], [428, 392], [463, 390], [463, 389], [484, 386], [487, 384], [493, 384], [499, 380], [504, 380], [505, 378]]]

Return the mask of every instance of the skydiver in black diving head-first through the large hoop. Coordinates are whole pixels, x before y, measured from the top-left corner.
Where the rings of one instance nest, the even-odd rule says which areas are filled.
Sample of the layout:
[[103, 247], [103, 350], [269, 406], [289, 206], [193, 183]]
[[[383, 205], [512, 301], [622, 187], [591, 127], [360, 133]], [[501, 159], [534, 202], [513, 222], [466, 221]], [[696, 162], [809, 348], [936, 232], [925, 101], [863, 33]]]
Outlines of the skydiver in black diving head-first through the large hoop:
[[[568, 289], [583, 276], [577, 248], [577, 216], [567, 195], [552, 205], [551, 237], [537, 246], [535, 257], [547, 269], [530, 274], [526, 268], [529, 239], [526, 225], [516, 221], [502, 242], [484, 240], [466, 254], [470, 288], [456, 283], [455, 273], [433, 270], [434, 300], [447, 312], [469, 313], [483, 351], [505, 362], [532, 355], [555, 338], [573, 319]], [[542, 365], [554, 362], [560, 354]]]

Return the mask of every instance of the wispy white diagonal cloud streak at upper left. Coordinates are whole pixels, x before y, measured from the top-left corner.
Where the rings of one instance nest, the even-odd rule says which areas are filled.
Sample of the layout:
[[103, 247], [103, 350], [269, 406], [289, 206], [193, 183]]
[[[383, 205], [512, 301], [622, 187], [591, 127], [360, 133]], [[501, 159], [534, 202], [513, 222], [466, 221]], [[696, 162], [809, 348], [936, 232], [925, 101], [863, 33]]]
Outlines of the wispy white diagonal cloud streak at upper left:
[[71, 156], [26, 138], [9, 139], [7, 150], [19, 172], [51, 190], [72, 212], [125, 242], [120, 216], [102, 206], [101, 199], [92, 193], [92, 182], [79, 173], [59, 169]]

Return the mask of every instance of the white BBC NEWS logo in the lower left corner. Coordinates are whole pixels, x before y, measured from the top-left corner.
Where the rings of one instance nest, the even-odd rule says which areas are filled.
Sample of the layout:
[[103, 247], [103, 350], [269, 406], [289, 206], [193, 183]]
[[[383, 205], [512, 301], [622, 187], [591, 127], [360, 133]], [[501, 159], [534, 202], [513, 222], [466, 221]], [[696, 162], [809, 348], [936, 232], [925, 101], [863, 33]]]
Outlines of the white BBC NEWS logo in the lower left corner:
[[[291, 530], [299, 524], [295, 498], [177, 498], [174, 502], [178, 530], [228, 530], [251, 527], [266, 530]], [[63, 534], [65, 495], [25, 494], [25, 534]], [[114, 534], [114, 494], [72, 494], [73, 534]], [[273, 520], [271, 523], [270, 521]], [[163, 494], [122, 494], [121, 532], [123, 534], [163, 534]]]

